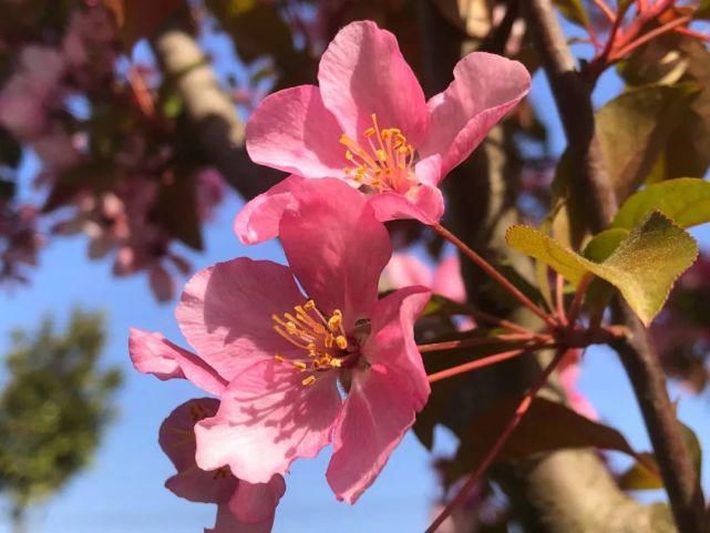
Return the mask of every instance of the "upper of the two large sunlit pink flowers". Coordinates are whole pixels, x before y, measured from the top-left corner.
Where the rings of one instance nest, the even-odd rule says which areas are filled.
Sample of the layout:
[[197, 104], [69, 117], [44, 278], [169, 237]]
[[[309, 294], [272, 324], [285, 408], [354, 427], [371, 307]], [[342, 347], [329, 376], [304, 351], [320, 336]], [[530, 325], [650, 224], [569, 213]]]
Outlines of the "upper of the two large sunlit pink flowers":
[[261, 102], [247, 125], [251, 160], [307, 178], [339, 177], [370, 197], [380, 221], [425, 224], [443, 214], [439, 182], [529, 89], [521, 63], [477, 52], [426, 102], [394, 35], [368, 21], [336, 35], [318, 81]]

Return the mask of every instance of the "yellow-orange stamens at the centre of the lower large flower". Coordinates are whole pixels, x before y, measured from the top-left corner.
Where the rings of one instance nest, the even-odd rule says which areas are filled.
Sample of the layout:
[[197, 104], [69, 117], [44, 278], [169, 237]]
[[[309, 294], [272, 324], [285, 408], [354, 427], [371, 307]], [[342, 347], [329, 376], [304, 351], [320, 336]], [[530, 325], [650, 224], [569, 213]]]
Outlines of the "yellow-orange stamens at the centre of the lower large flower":
[[301, 381], [306, 387], [316, 382], [317, 372], [341, 368], [353, 355], [353, 350], [349, 350], [350, 344], [342, 328], [340, 309], [333, 310], [332, 315], [327, 317], [320, 312], [313, 300], [308, 300], [302, 306], [296, 306], [292, 314], [285, 312], [282, 317], [271, 315], [271, 319], [277, 334], [306, 351], [303, 358], [286, 358], [277, 353], [274, 359], [279, 363], [291, 365], [301, 372], [308, 372]]

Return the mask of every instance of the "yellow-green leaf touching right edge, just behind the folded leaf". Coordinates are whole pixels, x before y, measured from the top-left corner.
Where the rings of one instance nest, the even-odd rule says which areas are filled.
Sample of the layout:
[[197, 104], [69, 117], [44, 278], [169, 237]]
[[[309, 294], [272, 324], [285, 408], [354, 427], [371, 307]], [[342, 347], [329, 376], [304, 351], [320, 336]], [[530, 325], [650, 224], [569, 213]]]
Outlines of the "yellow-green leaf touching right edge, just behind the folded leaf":
[[649, 185], [624, 203], [611, 226], [630, 229], [652, 211], [662, 212], [680, 227], [710, 222], [710, 183], [679, 177]]

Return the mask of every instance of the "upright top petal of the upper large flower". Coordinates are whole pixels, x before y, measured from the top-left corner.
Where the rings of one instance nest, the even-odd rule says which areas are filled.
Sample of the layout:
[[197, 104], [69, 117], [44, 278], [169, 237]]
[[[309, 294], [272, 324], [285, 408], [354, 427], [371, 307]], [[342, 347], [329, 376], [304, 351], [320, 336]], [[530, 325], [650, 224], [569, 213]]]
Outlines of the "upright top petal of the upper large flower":
[[374, 22], [352, 22], [338, 32], [320, 60], [318, 82], [326, 107], [353, 140], [364, 140], [372, 113], [380, 127], [399, 127], [410, 144], [423, 139], [422, 88], [394, 35]]

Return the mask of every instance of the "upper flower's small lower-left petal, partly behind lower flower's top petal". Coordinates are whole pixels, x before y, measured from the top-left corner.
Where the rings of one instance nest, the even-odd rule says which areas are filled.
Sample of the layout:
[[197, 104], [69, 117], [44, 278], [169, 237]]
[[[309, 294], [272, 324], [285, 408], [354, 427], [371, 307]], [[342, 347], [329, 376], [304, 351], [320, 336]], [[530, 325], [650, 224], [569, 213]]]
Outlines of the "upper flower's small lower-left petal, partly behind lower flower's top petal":
[[257, 244], [278, 236], [284, 209], [292, 206], [292, 191], [302, 181], [302, 177], [291, 174], [249, 201], [234, 221], [234, 232], [239, 240], [244, 244]]

